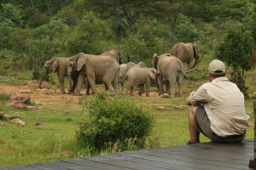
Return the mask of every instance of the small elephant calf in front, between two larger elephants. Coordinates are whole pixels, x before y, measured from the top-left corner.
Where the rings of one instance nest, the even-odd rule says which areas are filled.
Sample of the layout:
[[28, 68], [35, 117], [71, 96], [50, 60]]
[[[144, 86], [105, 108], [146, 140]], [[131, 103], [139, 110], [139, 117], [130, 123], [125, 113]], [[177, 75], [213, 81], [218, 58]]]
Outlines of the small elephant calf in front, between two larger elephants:
[[149, 96], [151, 79], [156, 80], [156, 77], [160, 75], [160, 72], [155, 68], [133, 66], [126, 72], [123, 78], [123, 80], [127, 78], [126, 94], [128, 94], [130, 90], [130, 96], [133, 96], [133, 86], [138, 85], [141, 90], [141, 95], [145, 92], [144, 84], [146, 84], [146, 96]]

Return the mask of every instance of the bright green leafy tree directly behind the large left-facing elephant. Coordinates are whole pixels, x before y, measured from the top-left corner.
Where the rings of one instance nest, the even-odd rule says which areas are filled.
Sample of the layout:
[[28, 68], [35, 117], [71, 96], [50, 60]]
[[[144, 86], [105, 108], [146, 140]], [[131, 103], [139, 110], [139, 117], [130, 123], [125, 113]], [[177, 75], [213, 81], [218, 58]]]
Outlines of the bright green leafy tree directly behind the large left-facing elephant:
[[107, 23], [93, 12], [84, 14], [81, 22], [67, 38], [66, 47], [71, 55], [77, 53], [101, 53], [99, 41], [108, 33]]

